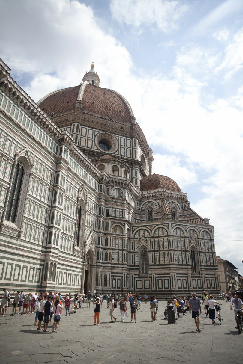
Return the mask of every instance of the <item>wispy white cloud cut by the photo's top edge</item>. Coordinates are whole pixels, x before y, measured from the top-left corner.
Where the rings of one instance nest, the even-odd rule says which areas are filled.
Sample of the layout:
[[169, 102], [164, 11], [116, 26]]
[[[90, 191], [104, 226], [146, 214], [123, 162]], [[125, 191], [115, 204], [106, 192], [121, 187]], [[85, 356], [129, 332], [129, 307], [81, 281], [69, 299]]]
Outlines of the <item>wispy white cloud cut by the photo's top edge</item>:
[[111, 0], [110, 9], [120, 24], [135, 28], [154, 25], [159, 31], [169, 33], [179, 27], [188, 7], [180, 1]]

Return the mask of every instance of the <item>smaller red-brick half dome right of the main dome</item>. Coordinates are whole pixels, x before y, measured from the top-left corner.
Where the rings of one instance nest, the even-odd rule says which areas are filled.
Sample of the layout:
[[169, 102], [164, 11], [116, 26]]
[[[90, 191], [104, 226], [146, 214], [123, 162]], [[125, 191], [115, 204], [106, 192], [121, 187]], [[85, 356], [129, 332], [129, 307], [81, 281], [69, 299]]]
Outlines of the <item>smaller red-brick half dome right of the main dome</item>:
[[141, 191], [157, 190], [160, 188], [181, 193], [180, 187], [172, 178], [162, 176], [161, 174], [150, 174], [140, 181]]

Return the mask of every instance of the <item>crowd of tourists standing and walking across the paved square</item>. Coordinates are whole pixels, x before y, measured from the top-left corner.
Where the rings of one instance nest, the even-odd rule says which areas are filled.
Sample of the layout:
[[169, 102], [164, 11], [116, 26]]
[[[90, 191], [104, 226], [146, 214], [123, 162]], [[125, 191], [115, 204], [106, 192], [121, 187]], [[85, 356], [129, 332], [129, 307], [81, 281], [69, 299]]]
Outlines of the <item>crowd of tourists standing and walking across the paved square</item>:
[[[4, 288], [4, 295], [0, 305], [0, 316], [4, 316], [7, 312], [7, 307], [9, 305], [10, 292]], [[230, 297], [230, 300], [228, 298]], [[233, 297], [233, 298], [232, 298]], [[151, 321], [157, 321], [156, 314], [158, 312], [158, 300], [155, 295], [149, 297], [146, 293], [141, 297], [140, 293], [126, 293], [122, 296], [121, 293], [110, 294], [108, 293], [106, 297], [103, 293], [95, 295], [92, 299], [91, 293], [87, 294], [87, 308], [90, 308], [90, 303], [93, 301], [94, 308], [94, 325], [100, 324], [100, 309], [102, 303], [106, 300], [106, 307], [109, 308], [109, 323], [115, 323], [117, 317], [114, 316], [114, 310], [119, 305], [121, 323], [124, 323], [125, 317], [127, 316], [128, 308], [130, 309], [131, 322], [134, 321], [136, 324], [136, 313], [139, 312], [142, 298], [147, 304], [149, 300]], [[238, 294], [222, 293], [221, 298], [226, 299], [227, 302], [231, 302], [230, 309], [239, 309], [241, 316], [243, 318], [243, 302], [238, 297]], [[81, 294], [75, 293], [72, 297], [71, 293], [67, 293], [65, 297], [62, 297], [60, 292], [51, 291], [38, 292], [24, 294], [23, 290], [17, 291], [17, 294], [13, 298], [12, 313], [10, 316], [15, 316], [16, 314], [35, 314], [34, 325], [37, 326], [38, 331], [48, 332], [48, 324], [52, 325], [52, 333], [57, 333], [57, 328], [60, 323], [60, 318], [62, 311], [66, 312], [65, 316], [70, 316], [71, 313], [76, 313], [76, 309], [81, 309], [83, 297]], [[202, 303], [201, 303], [202, 301]], [[212, 320], [212, 324], [215, 324], [215, 305], [222, 305], [217, 302], [213, 295], [208, 292], [203, 292], [202, 297], [196, 297], [196, 293], [191, 293], [189, 296], [179, 298], [177, 294], [173, 298], [167, 301], [167, 305], [164, 310], [164, 320], [168, 320], [168, 310], [173, 309], [175, 320], [180, 314], [187, 316], [186, 312], [192, 315], [195, 320], [196, 331], [201, 332], [200, 329], [200, 314], [202, 313], [201, 305], [204, 307], [204, 314]], [[22, 312], [21, 312], [22, 311]], [[235, 310], [235, 315], [237, 311]], [[53, 318], [53, 321], [52, 321]], [[43, 322], [43, 329], [42, 329]], [[237, 320], [236, 320], [237, 323]], [[236, 327], [238, 328], [238, 326]]]

